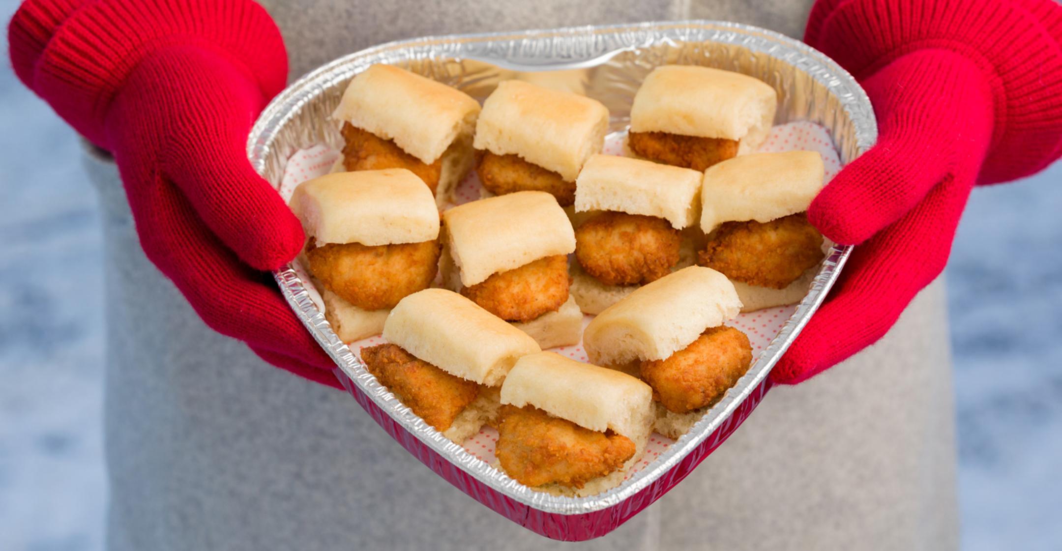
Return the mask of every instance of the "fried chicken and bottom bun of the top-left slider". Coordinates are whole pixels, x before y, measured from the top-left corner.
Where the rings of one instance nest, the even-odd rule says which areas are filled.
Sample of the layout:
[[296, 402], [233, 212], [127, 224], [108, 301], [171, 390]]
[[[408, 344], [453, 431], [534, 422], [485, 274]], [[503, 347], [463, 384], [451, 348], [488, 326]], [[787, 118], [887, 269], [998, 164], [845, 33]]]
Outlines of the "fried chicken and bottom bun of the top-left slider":
[[[435, 196], [435, 205], [442, 208], [453, 200], [458, 183], [472, 171], [475, 158], [472, 136], [461, 134], [431, 165], [402, 151], [392, 140], [358, 128], [350, 123], [343, 124], [343, 157], [338, 162], [347, 171], [400, 168], [416, 174]], [[335, 171], [336, 167], [332, 168]]]

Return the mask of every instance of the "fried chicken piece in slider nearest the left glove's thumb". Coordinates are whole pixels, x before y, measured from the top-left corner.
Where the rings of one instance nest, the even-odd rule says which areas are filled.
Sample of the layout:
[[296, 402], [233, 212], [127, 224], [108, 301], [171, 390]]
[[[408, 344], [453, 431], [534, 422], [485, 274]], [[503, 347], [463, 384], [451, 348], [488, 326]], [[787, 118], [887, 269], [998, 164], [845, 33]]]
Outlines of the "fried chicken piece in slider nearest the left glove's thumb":
[[406, 295], [427, 289], [439, 271], [438, 240], [367, 246], [329, 243], [306, 248], [310, 273], [362, 310], [394, 308]]

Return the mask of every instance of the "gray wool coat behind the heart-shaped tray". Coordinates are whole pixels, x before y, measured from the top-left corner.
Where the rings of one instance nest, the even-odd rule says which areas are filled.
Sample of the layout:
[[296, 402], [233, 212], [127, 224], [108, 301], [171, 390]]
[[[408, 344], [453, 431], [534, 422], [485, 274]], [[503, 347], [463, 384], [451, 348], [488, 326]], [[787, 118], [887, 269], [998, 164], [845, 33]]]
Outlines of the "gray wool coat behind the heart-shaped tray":
[[[800, 36], [807, 2], [266, 2], [292, 76], [426, 34], [729, 19]], [[771, 392], [687, 480], [603, 538], [561, 544], [451, 487], [346, 394], [209, 330], [144, 258], [106, 159], [108, 547], [299, 549], [875, 549], [957, 547], [944, 293], [877, 345]]]

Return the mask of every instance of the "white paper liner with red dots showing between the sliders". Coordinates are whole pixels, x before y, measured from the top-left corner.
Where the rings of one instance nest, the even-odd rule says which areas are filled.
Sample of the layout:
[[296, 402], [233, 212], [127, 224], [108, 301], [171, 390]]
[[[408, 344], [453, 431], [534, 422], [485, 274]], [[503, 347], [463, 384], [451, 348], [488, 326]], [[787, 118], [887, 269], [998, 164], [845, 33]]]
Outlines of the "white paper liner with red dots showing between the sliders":
[[[622, 132], [611, 134], [605, 140], [602, 153], [606, 155], [622, 155], [624, 136], [626, 133]], [[801, 150], [817, 151], [822, 155], [823, 165], [825, 166], [826, 182], [829, 182], [829, 179], [833, 178], [838, 171], [840, 171], [840, 156], [834, 148], [834, 142], [829, 136], [829, 132], [826, 131], [824, 126], [812, 122], [790, 122], [774, 126], [771, 128], [770, 134], [767, 136], [767, 139], [764, 141], [764, 144], [760, 145], [758, 151], [763, 153], [772, 153]], [[331, 172], [332, 168], [337, 166], [340, 155], [341, 153], [339, 150], [331, 149], [325, 144], [319, 144], [297, 151], [291, 156], [291, 158], [288, 159], [284, 178], [280, 182], [278, 190], [280, 195], [285, 201], [288, 201], [291, 199], [291, 193], [299, 184]], [[483, 188], [480, 186], [479, 177], [476, 176], [475, 172], [468, 174], [468, 176], [466, 176], [458, 185], [453, 195], [455, 204], [450, 206], [462, 205], [483, 196]], [[295, 261], [292, 262], [292, 265], [295, 273], [298, 274], [299, 278], [302, 278], [304, 282], [311, 281], [309, 273], [306, 272], [303, 266], [301, 258], [295, 259]], [[307, 285], [306, 289], [310, 298], [313, 299], [314, 304], [316, 304], [318, 308], [323, 313], [324, 303], [322, 302], [320, 294], [318, 294], [312, 285]], [[734, 320], [727, 322], [726, 325], [740, 329], [749, 337], [749, 342], [752, 344], [753, 363], [755, 363], [756, 359], [759, 358], [760, 352], [763, 352], [764, 348], [767, 347], [771, 340], [778, 334], [782, 330], [782, 326], [787, 320], [789, 320], [789, 316], [792, 315], [794, 310], [795, 306], [784, 306], [742, 313], [738, 314], [738, 316]], [[592, 315], [584, 316], [583, 327], [585, 328], [586, 324], [588, 324], [593, 318], [594, 316]], [[382, 342], [384, 342], [383, 339], [377, 335], [356, 341], [350, 343], [349, 346], [355, 355], [358, 355], [362, 347], [374, 346]], [[582, 343], [572, 346], [562, 346], [560, 348], [553, 348], [552, 350], [573, 360], [581, 362], [586, 361], [586, 351], [583, 349]], [[494, 448], [497, 441], [498, 431], [490, 427], [483, 427], [477, 434], [465, 441], [463, 445], [464, 448], [473, 455], [485, 461], [489, 464], [494, 464], [496, 461]], [[673, 442], [674, 441], [671, 438], [654, 433], [650, 437], [645, 457], [631, 469], [628, 476], [633, 475], [634, 472], [637, 472], [648, 466]]]

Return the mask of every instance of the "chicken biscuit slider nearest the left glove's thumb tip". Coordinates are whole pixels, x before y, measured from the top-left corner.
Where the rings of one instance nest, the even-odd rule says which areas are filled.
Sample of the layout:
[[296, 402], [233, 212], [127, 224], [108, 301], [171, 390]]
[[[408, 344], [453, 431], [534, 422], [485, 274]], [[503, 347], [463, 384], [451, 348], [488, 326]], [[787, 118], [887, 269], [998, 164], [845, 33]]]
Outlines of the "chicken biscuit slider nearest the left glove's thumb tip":
[[427, 289], [439, 271], [439, 209], [406, 169], [339, 172], [295, 188], [305, 265], [325, 318], [346, 343], [379, 334], [388, 311]]

